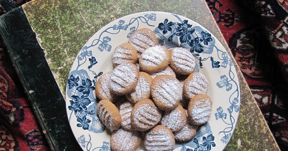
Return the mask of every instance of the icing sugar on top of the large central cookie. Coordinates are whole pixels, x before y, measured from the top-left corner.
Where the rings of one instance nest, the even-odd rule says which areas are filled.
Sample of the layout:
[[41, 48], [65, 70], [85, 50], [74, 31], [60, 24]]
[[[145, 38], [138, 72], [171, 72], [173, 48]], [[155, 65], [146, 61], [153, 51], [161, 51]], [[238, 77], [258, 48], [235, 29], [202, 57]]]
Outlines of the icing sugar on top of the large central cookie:
[[163, 79], [157, 83], [158, 87], [152, 94], [153, 100], [164, 102], [168, 107], [174, 106], [182, 97], [182, 89], [177, 79]]

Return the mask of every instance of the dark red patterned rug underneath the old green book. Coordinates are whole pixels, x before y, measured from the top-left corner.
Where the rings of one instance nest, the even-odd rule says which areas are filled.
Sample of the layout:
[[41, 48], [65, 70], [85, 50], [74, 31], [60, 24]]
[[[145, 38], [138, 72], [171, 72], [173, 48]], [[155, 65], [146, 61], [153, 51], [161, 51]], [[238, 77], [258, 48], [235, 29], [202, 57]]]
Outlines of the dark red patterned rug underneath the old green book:
[[[30, 0], [0, 0], [0, 15]], [[288, 147], [288, 0], [206, 0], [281, 150]], [[0, 40], [0, 150], [50, 150]]]

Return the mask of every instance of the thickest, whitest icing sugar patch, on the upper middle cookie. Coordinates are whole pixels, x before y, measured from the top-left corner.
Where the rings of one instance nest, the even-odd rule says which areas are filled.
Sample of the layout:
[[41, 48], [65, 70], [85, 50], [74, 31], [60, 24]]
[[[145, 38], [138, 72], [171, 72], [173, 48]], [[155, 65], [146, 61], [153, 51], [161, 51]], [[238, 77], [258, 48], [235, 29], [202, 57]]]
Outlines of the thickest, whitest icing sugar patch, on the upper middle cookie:
[[147, 66], [158, 66], [165, 59], [168, 59], [165, 49], [160, 46], [154, 46], [147, 48], [140, 57], [143, 64]]

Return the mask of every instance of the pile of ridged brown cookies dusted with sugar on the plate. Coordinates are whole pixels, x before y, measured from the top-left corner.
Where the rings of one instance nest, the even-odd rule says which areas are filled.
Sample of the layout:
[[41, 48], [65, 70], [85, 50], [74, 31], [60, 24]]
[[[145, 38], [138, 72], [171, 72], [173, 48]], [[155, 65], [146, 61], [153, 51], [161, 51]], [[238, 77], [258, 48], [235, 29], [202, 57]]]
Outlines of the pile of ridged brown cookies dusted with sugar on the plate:
[[171, 151], [175, 140], [191, 140], [208, 120], [208, 80], [194, 72], [188, 50], [168, 50], [142, 28], [115, 48], [112, 59], [114, 70], [96, 83], [96, 112], [112, 131], [113, 151], [136, 150], [142, 140], [147, 151]]

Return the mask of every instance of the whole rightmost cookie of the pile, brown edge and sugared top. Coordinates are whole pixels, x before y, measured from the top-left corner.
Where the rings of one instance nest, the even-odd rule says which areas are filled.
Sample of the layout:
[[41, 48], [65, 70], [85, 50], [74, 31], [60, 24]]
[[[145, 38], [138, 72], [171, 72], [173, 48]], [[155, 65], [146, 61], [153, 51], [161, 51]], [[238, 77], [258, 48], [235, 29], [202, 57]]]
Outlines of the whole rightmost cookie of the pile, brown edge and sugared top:
[[187, 109], [188, 118], [192, 125], [201, 125], [208, 121], [212, 110], [212, 101], [206, 94], [194, 96]]

